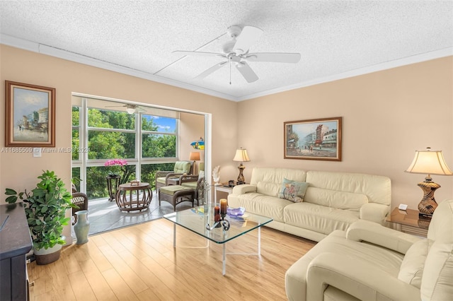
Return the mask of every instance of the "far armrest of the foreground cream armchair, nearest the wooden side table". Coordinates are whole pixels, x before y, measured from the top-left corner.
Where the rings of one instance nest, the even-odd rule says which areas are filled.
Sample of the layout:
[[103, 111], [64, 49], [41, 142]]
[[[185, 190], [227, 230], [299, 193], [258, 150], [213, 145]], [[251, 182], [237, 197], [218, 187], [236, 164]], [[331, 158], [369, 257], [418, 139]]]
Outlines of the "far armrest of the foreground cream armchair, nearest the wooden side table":
[[352, 223], [346, 231], [346, 238], [357, 242], [370, 242], [402, 254], [406, 254], [409, 247], [421, 239], [368, 220], [357, 220]]

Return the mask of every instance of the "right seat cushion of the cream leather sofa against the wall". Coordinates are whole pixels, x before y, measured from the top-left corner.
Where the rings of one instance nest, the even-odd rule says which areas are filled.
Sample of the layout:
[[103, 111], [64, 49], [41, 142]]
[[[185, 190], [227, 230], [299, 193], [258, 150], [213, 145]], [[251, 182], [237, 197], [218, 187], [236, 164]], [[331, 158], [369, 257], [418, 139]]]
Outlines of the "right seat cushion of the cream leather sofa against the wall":
[[286, 206], [284, 218], [288, 225], [329, 234], [333, 230], [348, 229], [359, 219], [359, 213], [302, 202]]

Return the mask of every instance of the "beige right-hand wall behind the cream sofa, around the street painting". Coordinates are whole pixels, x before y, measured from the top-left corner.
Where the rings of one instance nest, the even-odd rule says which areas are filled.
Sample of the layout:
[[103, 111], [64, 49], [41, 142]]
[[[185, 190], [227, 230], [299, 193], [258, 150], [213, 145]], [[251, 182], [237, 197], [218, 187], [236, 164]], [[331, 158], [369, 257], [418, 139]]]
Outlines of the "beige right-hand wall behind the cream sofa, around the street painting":
[[[239, 144], [254, 166], [364, 172], [392, 180], [393, 206], [417, 208], [424, 175], [403, 172], [415, 150], [442, 150], [453, 169], [453, 57], [425, 61], [239, 102]], [[343, 117], [343, 160], [284, 159], [283, 122]], [[453, 197], [453, 177], [433, 175], [437, 201]]]

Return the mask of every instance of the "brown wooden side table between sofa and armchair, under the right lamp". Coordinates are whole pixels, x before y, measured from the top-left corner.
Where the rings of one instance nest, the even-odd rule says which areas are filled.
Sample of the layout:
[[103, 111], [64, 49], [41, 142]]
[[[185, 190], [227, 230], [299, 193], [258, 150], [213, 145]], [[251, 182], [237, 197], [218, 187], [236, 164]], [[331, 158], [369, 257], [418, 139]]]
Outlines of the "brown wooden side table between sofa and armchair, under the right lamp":
[[406, 211], [402, 211], [396, 207], [387, 216], [386, 221], [394, 223], [398, 231], [426, 237], [431, 220], [419, 219], [418, 210], [407, 209]]

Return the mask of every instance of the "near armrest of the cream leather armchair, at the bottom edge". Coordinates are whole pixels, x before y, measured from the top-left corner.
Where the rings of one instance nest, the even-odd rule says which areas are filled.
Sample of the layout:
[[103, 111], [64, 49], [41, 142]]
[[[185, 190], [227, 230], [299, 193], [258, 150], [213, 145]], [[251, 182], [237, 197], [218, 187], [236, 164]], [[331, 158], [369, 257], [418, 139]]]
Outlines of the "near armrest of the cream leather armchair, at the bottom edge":
[[415, 286], [372, 262], [345, 254], [321, 253], [309, 264], [306, 300], [323, 300], [328, 285], [360, 300], [420, 300], [420, 290]]

